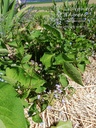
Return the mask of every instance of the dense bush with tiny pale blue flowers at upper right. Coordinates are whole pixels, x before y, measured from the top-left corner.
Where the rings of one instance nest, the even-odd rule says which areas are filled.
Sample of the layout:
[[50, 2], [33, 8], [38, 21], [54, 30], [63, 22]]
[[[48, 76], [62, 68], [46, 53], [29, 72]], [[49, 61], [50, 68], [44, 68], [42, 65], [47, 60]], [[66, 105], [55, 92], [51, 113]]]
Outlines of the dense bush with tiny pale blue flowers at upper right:
[[89, 1], [78, 0], [72, 4], [64, 2], [58, 8], [56, 3], [53, 6], [54, 14], [50, 18], [50, 24], [65, 31], [70, 29], [77, 35], [85, 35], [91, 40], [96, 51], [96, 4], [88, 4]]

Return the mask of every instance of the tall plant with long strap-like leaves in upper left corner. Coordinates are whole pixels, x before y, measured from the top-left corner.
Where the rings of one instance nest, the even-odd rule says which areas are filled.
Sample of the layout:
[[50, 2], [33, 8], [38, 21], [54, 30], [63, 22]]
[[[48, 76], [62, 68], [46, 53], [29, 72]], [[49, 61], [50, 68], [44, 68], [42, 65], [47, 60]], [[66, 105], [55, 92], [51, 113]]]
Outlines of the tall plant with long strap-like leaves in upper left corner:
[[26, 13], [26, 10], [30, 7], [24, 7], [20, 11], [15, 8], [16, 0], [1, 0], [0, 3], [0, 33], [6, 35], [14, 25], [14, 21], [18, 22], [22, 16]]

